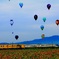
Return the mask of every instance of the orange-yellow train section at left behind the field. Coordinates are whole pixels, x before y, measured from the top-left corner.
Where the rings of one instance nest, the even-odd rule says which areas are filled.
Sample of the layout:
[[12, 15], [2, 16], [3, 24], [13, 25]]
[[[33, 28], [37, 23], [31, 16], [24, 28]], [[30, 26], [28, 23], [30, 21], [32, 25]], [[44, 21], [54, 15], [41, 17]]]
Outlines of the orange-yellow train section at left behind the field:
[[24, 44], [0, 44], [0, 49], [25, 48]]

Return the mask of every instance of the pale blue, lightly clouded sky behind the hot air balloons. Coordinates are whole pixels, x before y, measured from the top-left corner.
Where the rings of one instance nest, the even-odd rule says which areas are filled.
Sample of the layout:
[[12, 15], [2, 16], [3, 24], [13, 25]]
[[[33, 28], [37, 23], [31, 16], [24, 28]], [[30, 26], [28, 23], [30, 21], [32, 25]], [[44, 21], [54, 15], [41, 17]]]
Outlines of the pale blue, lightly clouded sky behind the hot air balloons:
[[[19, 3], [24, 5], [20, 8]], [[51, 9], [47, 9], [51, 4]], [[37, 21], [34, 15], [38, 15]], [[44, 23], [42, 18], [46, 17]], [[10, 19], [14, 20], [11, 27]], [[59, 26], [55, 21], [59, 19], [59, 0], [0, 0], [0, 42], [22, 42], [41, 38], [44, 33], [46, 37], [59, 35]], [[44, 25], [44, 30], [40, 26]], [[14, 34], [12, 34], [12, 31]], [[19, 39], [14, 38], [19, 35]]]

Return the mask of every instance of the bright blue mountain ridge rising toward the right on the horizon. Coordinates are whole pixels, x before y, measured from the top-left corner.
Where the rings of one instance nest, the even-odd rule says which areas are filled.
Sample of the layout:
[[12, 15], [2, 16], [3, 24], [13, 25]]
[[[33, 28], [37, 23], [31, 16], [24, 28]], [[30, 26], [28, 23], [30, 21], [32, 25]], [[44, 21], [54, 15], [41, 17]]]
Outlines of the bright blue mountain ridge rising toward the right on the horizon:
[[54, 35], [44, 39], [34, 39], [32, 41], [17, 42], [15, 44], [59, 44], [59, 36]]

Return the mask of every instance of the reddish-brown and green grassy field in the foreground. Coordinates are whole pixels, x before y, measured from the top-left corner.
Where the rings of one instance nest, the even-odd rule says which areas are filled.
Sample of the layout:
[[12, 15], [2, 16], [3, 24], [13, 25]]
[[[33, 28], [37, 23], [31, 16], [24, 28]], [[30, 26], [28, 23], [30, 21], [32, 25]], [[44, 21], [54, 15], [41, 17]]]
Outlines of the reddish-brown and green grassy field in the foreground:
[[59, 48], [3, 49], [0, 59], [59, 59]]

